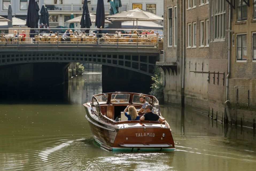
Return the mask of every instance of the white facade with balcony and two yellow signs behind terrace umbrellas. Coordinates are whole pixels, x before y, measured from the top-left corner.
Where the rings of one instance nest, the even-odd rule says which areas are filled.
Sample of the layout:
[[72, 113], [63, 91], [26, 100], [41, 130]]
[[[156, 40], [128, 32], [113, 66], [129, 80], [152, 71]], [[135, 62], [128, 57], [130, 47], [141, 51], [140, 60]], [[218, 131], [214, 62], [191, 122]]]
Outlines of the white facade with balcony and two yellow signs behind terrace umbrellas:
[[[49, 14], [51, 15], [50, 26], [68, 26], [69, 24], [65, 21], [69, 19], [71, 13], [74, 14], [74, 17], [82, 15], [82, 1], [83, 0], [44, 0], [44, 4], [48, 9]], [[90, 13], [96, 14], [97, 0], [87, 1]], [[119, 11], [130, 10], [133, 9], [133, 7], [140, 7], [142, 10], [150, 11], [161, 17], [164, 13], [162, 0], [121, 0], [121, 2], [122, 7], [119, 8]], [[107, 0], [104, 0], [104, 5], [105, 15], [109, 15], [110, 4], [107, 2]], [[75, 24], [75, 28], [77, 27], [79, 27], [79, 24]]]

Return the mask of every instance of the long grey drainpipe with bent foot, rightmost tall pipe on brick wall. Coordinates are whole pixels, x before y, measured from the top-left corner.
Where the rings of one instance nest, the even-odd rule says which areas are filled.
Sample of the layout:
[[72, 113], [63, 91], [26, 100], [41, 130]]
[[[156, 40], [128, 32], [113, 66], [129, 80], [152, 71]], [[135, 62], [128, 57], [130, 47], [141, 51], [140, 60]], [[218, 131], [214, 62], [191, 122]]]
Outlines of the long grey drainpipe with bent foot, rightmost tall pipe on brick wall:
[[229, 109], [228, 109], [228, 104], [230, 103], [230, 101], [228, 100], [228, 78], [230, 75], [230, 24], [231, 24], [231, 7], [229, 5], [229, 10], [228, 10], [228, 75], [226, 77], [226, 102], [225, 102], [225, 110], [227, 113], [227, 117], [228, 117], [228, 122], [230, 123], [230, 125], [232, 125], [231, 122], [231, 117], [229, 114]]

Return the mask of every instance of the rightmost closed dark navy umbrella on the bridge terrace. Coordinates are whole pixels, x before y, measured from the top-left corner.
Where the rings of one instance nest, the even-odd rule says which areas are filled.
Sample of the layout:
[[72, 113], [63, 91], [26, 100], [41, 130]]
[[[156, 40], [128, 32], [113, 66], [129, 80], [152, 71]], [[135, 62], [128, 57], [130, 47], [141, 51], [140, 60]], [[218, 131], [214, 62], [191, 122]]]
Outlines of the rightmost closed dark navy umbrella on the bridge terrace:
[[[98, 29], [103, 29], [105, 25], [105, 10], [104, 10], [104, 2], [103, 0], [98, 0], [97, 9], [96, 9], [96, 21], [95, 26]], [[102, 37], [102, 31], [99, 30], [99, 37]]]

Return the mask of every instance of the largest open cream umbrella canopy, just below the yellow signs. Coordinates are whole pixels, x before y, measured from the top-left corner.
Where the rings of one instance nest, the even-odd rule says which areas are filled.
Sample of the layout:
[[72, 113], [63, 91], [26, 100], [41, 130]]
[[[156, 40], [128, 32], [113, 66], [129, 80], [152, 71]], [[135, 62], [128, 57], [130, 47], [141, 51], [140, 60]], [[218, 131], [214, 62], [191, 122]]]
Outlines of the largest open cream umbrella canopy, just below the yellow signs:
[[123, 11], [121, 13], [116, 13], [114, 15], [107, 15], [105, 18], [126, 18], [139, 20], [164, 20], [163, 17], [152, 14], [148, 11], [141, 10], [139, 8]]

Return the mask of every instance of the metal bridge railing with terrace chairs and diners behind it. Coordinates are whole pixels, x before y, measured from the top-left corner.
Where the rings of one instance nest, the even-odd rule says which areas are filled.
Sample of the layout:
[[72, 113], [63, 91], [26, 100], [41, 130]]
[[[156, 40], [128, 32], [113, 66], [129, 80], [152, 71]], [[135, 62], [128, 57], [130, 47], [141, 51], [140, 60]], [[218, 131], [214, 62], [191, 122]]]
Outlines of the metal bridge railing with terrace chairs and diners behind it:
[[[163, 42], [162, 30], [152, 30], [151, 34], [133, 29], [133, 34], [123, 33], [123, 29], [30, 29], [9, 28], [9, 33], [0, 29], [0, 46], [111, 46], [159, 48]], [[71, 31], [72, 30], [72, 31]], [[136, 31], [136, 32], [135, 32]], [[142, 32], [143, 31], [143, 32]], [[87, 32], [87, 33], [86, 33]], [[104, 33], [102, 33], [104, 32]], [[106, 33], [107, 32], [107, 33]], [[114, 34], [109, 34], [113, 33]]]

